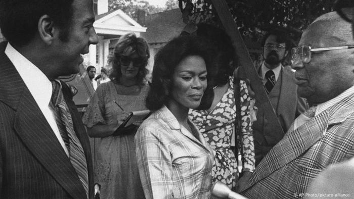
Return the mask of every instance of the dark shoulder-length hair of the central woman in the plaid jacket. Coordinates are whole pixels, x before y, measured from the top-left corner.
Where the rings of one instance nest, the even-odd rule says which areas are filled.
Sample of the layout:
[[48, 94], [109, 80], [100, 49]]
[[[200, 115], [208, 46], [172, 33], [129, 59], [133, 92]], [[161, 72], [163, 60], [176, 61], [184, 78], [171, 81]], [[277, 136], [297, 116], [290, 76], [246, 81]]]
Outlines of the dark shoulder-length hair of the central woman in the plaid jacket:
[[[201, 37], [193, 35], [183, 35], [170, 40], [163, 46], [155, 56], [154, 68], [152, 72], [152, 82], [146, 98], [146, 107], [155, 111], [167, 103], [172, 89], [172, 75], [178, 64], [188, 56], [200, 56], [204, 59], [208, 72], [208, 86], [204, 91], [203, 98], [213, 97], [213, 90], [209, 78], [210, 69], [213, 65], [213, 52], [208, 47], [207, 42]], [[202, 104], [202, 103], [201, 103]], [[199, 107], [200, 110], [209, 107]]]

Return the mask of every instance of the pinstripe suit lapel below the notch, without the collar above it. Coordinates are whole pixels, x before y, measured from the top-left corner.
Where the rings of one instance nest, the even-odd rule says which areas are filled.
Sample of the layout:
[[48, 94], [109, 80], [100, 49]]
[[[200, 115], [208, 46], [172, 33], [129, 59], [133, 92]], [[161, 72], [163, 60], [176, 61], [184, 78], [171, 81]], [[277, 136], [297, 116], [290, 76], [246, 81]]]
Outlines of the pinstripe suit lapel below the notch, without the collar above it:
[[14, 129], [29, 151], [69, 194], [73, 197], [85, 194], [69, 158], [27, 88], [19, 102]]

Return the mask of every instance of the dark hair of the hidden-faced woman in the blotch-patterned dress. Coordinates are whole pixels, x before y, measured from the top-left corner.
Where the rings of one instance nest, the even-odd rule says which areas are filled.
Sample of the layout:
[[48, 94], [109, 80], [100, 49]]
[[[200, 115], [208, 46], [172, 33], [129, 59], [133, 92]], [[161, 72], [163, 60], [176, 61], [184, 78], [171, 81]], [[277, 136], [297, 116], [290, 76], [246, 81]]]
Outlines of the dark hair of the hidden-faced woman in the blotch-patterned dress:
[[215, 67], [217, 68], [217, 73], [213, 82], [217, 86], [227, 84], [237, 63], [234, 56], [235, 48], [232, 45], [230, 36], [224, 29], [211, 24], [200, 23], [197, 27], [197, 36], [205, 37], [209, 40], [210, 45], [216, 48]]

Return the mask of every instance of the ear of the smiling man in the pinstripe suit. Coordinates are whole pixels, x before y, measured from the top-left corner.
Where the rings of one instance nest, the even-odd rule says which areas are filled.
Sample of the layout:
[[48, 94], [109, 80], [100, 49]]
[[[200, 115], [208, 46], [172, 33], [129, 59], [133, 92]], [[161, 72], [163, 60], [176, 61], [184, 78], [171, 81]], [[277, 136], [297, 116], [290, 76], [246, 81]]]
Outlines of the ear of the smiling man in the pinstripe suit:
[[38, 33], [42, 41], [46, 44], [51, 44], [54, 35], [55, 35], [55, 27], [53, 19], [48, 15], [43, 15], [38, 20]]

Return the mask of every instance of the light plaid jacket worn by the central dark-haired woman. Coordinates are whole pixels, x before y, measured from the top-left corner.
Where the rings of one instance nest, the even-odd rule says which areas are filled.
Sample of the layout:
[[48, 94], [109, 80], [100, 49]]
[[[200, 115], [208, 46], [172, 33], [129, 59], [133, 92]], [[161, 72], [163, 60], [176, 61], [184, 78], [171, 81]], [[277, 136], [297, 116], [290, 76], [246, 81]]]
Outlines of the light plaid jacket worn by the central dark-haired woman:
[[213, 154], [194, 131], [199, 140], [165, 106], [141, 124], [135, 146], [147, 199], [210, 197]]

